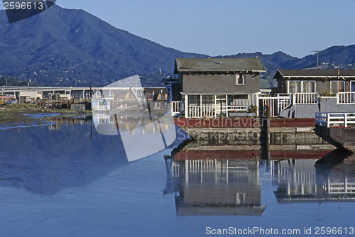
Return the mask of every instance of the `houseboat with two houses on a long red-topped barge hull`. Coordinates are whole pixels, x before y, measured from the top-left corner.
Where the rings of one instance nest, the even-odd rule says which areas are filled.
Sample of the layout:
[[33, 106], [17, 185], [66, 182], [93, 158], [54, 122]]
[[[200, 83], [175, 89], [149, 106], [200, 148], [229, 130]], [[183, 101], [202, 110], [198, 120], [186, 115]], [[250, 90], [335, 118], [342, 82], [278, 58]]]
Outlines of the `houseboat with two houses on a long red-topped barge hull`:
[[315, 114], [354, 113], [355, 70], [280, 69], [271, 91], [262, 72], [258, 57], [177, 58], [165, 82], [175, 124], [210, 149], [334, 148], [314, 133]]

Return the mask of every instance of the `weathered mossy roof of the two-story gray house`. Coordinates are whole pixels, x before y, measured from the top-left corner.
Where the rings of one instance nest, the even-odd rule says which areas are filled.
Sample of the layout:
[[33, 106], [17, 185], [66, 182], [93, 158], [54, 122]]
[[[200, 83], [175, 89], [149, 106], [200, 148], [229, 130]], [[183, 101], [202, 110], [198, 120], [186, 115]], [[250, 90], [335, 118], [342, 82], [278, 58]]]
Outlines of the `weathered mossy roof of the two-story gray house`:
[[177, 58], [174, 74], [179, 72], [265, 72], [258, 57]]

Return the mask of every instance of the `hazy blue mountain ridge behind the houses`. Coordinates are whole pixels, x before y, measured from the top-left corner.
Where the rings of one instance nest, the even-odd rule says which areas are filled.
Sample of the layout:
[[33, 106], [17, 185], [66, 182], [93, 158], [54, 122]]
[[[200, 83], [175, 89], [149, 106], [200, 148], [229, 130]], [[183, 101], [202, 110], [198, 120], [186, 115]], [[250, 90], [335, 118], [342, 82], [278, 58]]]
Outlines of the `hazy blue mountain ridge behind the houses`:
[[[9, 24], [0, 11], [0, 85], [104, 86], [141, 75], [143, 86], [163, 86], [160, 68], [171, 76], [176, 57], [208, 57], [184, 53], [109, 25], [82, 10], [54, 5], [47, 11]], [[322, 68], [355, 68], [355, 45], [334, 46], [318, 53]], [[275, 86], [278, 68], [317, 67], [317, 53], [303, 58], [283, 52], [239, 53], [218, 57], [260, 57], [266, 67], [261, 87]], [[2, 77], [1, 77], [2, 75]]]

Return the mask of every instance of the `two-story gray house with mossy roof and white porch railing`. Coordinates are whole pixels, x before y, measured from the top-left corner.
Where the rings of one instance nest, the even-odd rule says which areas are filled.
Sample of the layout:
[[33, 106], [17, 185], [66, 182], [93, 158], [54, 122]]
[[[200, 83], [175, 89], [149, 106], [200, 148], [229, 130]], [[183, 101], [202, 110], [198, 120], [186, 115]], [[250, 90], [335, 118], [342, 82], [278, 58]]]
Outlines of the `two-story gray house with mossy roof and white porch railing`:
[[258, 57], [177, 58], [174, 75], [181, 102], [175, 103], [181, 103], [186, 118], [245, 115], [258, 108], [265, 71]]

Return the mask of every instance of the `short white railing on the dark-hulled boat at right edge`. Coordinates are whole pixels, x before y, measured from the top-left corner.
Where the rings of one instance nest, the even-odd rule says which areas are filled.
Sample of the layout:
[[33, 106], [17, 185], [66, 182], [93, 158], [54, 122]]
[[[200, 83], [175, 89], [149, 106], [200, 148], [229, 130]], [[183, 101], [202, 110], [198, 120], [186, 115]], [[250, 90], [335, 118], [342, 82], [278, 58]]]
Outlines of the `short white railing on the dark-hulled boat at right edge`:
[[354, 113], [315, 113], [315, 124], [330, 128], [332, 126], [348, 127], [355, 124]]

